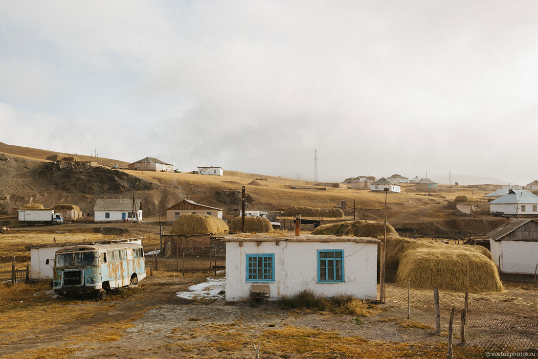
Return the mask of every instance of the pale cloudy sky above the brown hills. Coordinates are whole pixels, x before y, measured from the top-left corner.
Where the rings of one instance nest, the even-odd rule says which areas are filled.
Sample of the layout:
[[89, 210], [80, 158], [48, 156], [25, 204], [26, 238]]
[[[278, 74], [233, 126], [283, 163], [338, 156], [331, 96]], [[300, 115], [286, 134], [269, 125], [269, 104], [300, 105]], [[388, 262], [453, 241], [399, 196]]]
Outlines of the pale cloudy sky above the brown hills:
[[[0, 0], [0, 142], [314, 180], [538, 179], [538, 2]], [[454, 177], [456, 174], [456, 177]]]

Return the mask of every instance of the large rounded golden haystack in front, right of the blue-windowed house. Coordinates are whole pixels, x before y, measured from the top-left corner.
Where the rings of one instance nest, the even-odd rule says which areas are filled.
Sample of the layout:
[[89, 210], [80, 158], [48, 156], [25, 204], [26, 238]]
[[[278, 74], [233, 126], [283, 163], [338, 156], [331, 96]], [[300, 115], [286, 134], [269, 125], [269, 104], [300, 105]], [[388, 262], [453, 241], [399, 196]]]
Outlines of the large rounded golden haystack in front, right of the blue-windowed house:
[[415, 288], [502, 292], [497, 267], [479, 253], [465, 250], [415, 249], [402, 256], [396, 281]]

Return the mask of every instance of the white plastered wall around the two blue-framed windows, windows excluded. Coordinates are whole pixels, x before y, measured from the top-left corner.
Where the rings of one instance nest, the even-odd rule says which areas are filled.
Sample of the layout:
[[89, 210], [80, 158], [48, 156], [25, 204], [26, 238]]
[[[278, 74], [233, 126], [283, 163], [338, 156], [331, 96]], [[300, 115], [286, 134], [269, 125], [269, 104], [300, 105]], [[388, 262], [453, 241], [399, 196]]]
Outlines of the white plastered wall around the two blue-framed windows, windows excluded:
[[[278, 238], [275, 238], [278, 240]], [[246, 254], [274, 254], [274, 283], [269, 285], [270, 299], [293, 295], [310, 288], [323, 295], [349, 293], [362, 299], [377, 297], [377, 244], [355, 242], [226, 242], [226, 300], [249, 300], [246, 281]], [[344, 250], [345, 283], [317, 283], [317, 250]], [[358, 252], [357, 252], [358, 251]], [[346, 257], [349, 256], [349, 257]]]

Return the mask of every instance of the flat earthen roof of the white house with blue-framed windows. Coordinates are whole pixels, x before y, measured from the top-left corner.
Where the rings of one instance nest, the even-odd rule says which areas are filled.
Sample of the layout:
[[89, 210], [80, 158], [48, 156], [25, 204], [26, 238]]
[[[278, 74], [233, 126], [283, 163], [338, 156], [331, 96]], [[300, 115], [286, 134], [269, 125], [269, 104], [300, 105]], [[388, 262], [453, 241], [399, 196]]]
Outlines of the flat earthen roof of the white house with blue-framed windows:
[[355, 243], [381, 243], [371, 237], [355, 236], [322, 236], [314, 234], [302, 234], [300, 236], [274, 237], [266, 234], [243, 234], [224, 236], [224, 242], [355, 242]]

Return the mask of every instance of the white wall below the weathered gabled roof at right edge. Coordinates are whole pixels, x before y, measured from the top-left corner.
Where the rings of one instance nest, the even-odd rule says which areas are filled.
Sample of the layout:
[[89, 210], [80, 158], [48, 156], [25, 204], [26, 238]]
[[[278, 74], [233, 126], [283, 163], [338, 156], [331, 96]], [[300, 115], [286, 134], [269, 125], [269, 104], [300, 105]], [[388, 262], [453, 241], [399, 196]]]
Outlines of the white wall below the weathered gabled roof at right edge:
[[534, 274], [538, 264], [538, 242], [490, 240], [491, 255], [504, 273]]

